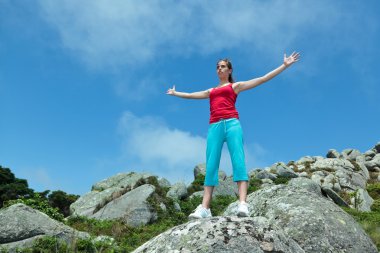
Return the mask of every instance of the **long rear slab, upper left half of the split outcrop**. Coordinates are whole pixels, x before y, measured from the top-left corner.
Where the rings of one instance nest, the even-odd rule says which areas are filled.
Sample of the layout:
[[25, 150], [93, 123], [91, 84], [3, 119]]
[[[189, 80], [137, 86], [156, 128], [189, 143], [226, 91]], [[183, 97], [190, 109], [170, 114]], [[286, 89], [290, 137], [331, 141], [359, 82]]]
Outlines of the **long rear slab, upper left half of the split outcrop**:
[[102, 180], [92, 186], [92, 191], [82, 195], [70, 205], [70, 213], [73, 216], [90, 217], [95, 209], [104, 206], [112, 199], [116, 199], [132, 190], [138, 184], [144, 183], [152, 177], [147, 173], [119, 173], [113, 177]]

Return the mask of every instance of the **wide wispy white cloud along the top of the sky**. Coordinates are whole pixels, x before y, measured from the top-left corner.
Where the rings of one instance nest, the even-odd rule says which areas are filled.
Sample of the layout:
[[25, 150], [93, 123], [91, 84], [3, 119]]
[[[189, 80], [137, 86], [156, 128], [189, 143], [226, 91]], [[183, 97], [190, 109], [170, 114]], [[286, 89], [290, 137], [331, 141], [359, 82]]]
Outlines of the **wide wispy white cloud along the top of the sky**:
[[338, 21], [330, 1], [49, 1], [43, 17], [89, 66], [231, 48], [280, 51], [303, 30]]

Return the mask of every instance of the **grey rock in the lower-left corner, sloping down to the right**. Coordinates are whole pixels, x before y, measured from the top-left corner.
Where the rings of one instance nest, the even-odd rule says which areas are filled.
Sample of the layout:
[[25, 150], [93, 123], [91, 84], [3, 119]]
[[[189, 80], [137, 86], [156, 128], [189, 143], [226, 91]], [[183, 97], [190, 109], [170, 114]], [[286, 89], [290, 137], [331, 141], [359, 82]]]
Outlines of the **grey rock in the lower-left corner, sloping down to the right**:
[[54, 236], [68, 244], [78, 238], [90, 237], [24, 204], [0, 210], [0, 248], [13, 251], [31, 247], [36, 239], [43, 236]]

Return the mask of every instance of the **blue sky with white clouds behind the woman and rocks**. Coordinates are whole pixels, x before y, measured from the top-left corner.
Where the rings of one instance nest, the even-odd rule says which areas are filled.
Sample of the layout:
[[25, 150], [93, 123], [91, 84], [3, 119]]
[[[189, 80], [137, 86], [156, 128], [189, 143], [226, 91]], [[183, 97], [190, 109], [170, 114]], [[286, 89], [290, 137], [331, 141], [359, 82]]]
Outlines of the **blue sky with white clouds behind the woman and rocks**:
[[[0, 0], [0, 165], [83, 194], [119, 172], [190, 182], [208, 100], [167, 96], [266, 74], [238, 97], [247, 168], [380, 141], [380, 2]], [[227, 149], [221, 168], [231, 165]]]

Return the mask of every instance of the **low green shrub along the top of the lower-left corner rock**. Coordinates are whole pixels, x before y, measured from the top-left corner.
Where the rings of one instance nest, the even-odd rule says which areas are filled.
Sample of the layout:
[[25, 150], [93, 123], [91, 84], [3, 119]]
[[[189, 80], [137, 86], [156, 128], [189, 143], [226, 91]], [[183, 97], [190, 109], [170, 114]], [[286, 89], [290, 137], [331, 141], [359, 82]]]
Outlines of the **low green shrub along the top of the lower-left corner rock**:
[[62, 221], [63, 214], [59, 212], [58, 208], [51, 207], [48, 200], [41, 198], [40, 194], [34, 193], [33, 198], [20, 198], [15, 200], [9, 200], [5, 202], [5, 207], [22, 203], [27, 206], [30, 206], [33, 209], [39, 210], [45, 214], [47, 214], [50, 218]]

